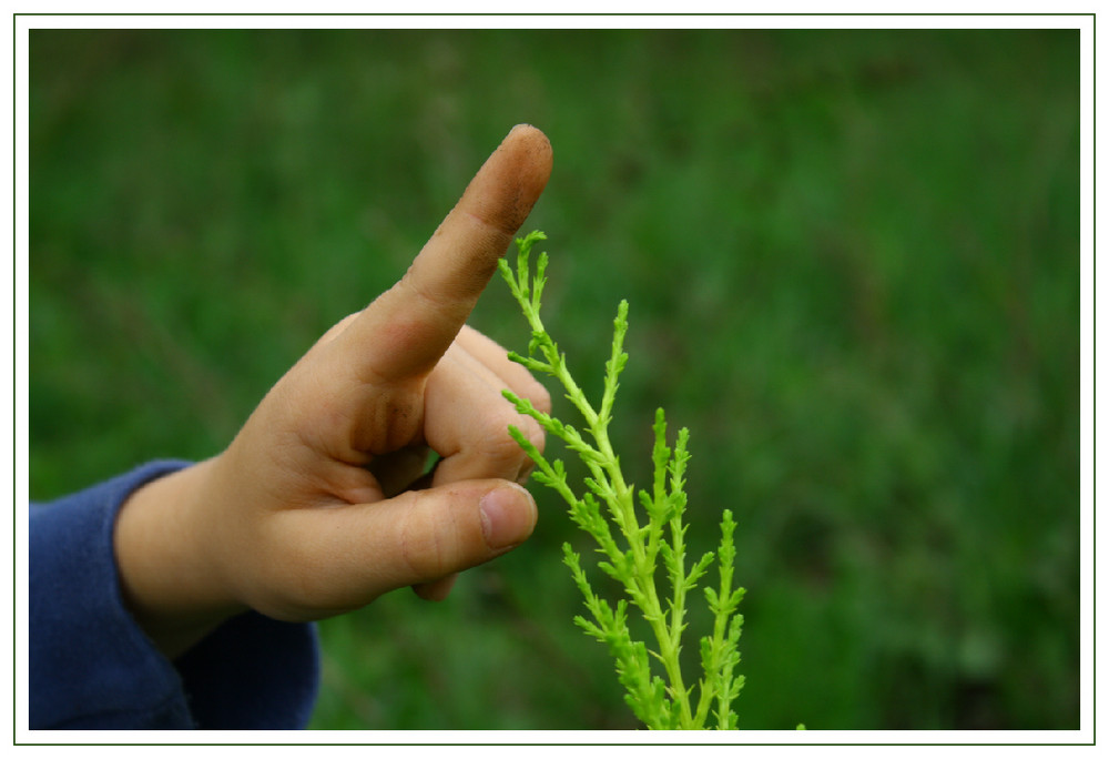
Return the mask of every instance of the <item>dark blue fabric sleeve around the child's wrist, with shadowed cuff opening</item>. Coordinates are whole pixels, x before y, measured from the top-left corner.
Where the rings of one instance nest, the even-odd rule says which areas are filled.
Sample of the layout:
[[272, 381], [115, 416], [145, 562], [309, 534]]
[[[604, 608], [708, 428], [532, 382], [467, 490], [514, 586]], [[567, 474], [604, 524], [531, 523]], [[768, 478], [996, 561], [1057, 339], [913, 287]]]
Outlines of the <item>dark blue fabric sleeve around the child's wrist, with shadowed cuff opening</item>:
[[155, 462], [30, 514], [31, 729], [279, 730], [307, 725], [319, 680], [316, 631], [255, 613], [174, 661], [123, 604], [115, 514]]

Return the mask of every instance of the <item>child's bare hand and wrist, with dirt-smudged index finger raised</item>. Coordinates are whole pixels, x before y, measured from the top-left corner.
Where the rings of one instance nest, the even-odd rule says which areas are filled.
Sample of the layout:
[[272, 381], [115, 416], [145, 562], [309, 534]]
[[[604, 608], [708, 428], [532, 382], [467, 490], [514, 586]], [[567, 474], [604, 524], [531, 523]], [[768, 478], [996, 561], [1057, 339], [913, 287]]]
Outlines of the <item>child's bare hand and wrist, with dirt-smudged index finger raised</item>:
[[465, 322], [550, 171], [546, 135], [516, 126], [404, 277], [324, 334], [223, 453], [128, 499], [120, 583], [163, 652], [247, 609], [307, 621], [406, 586], [442, 599], [528, 538], [530, 462], [507, 428], [543, 434], [501, 391], [550, 397]]

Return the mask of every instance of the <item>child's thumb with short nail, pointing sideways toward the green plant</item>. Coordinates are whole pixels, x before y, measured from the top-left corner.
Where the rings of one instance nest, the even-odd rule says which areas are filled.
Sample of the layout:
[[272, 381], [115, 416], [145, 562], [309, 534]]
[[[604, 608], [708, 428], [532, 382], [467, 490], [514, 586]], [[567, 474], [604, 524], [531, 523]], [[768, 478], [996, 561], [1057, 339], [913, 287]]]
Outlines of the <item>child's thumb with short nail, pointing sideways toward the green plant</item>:
[[[431, 583], [469, 569], [523, 543], [538, 516], [531, 495], [516, 483], [476, 479], [373, 504], [287, 513], [302, 546], [298, 586], [313, 589], [298, 616], [317, 618], [359, 608], [390, 590]], [[309, 537], [311, 536], [311, 537]], [[305, 574], [326, 577], [305, 584]], [[312, 609], [317, 611], [314, 614]]]

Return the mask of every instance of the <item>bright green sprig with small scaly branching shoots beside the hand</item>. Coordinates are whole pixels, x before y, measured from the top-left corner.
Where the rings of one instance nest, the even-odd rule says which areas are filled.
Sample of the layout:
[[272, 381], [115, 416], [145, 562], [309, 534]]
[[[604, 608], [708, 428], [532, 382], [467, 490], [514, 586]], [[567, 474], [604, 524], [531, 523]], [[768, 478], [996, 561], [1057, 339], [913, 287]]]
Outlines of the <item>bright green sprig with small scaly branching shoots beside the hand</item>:
[[[512, 437], [536, 463], [535, 478], [558, 492], [569, 504], [570, 517], [597, 542], [603, 557], [598, 567], [623, 586], [625, 598], [615, 607], [594, 593], [581, 557], [564, 544], [563, 559], [586, 599], [592, 619], [578, 616], [574, 621], [587, 634], [609, 647], [615, 659], [617, 674], [627, 689], [624, 699], [632, 711], [651, 729], [703, 729], [710, 717], [718, 729], [734, 729], [736, 715], [732, 702], [743, 687], [743, 676], [735, 672], [740, 661], [737, 644], [743, 616], [736, 608], [743, 588], [732, 587], [732, 563], [735, 548], [732, 534], [735, 523], [724, 509], [721, 520], [720, 547], [715, 557], [706, 553], [686, 567], [685, 465], [689, 429], [678, 433], [674, 447], [667, 444], [667, 421], [661, 408], [654, 419], [654, 480], [650, 489], [638, 490], [641, 509], [637, 509], [635, 486], [628, 483], [620, 459], [609, 441], [609, 424], [615, 401], [618, 378], [628, 362], [623, 338], [628, 332], [628, 302], [621, 301], [614, 321], [612, 356], [606, 363], [604, 389], [599, 408], [586, 398], [567, 367], [566, 356], [547, 333], [539, 316], [540, 298], [546, 283], [547, 254], [541, 253], [535, 277], [529, 271], [532, 245], [546, 240], [542, 232], [531, 232], [516, 241], [519, 255], [516, 271], [505, 260], [500, 271], [519, 302], [531, 326], [528, 355], [510, 353], [509, 357], [527, 368], [557, 378], [566, 396], [581, 413], [587, 439], [574, 427], [546, 414], [510, 391], [505, 392], [517, 409], [536, 419], [574, 452], [589, 470], [584, 489], [579, 496], [567, 483], [567, 472], [559, 459], [548, 461], [516, 427]], [[603, 505], [603, 508], [602, 508]], [[642, 514], [640, 513], [642, 512]], [[719, 586], [705, 587], [704, 598], [713, 614], [712, 632], [701, 638], [700, 680], [686, 684], [680, 654], [682, 636], [688, 627], [686, 601], [713, 559], [718, 560]], [[660, 583], [660, 576], [665, 579]], [[628, 626], [629, 601], [637, 607], [654, 637], [654, 647], [632, 639]], [[657, 660], [664, 676], [652, 669]], [[692, 695], [698, 691], [694, 701]]]

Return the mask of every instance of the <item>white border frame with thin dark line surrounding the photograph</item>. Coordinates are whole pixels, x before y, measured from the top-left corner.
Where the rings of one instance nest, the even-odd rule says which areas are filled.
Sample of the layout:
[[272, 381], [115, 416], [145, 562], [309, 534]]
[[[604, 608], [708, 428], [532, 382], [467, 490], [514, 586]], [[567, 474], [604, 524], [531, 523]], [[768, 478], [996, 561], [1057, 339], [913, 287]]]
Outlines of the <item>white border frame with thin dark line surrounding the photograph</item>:
[[[62, 3], [63, 6], [83, 6], [83, 3]], [[214, 4], [214, 3], [213, 3]], [[273, 10], [277, 3], [251, 3], [257, 4], [260, 12]], [[367, 3], [369, 4], [369, 3]], [[435, 7], [449, 3], [430, 3], [428, 13], [441, 13]], [[502, 11], [509, 3], [490, 3], [495, 6], [492, 12]], [[538, 3], [537, 3], [538, 4]], [[580, 11], [580, 6], [586, 3], [562, 3], [562, 7], [573, 6], [573, 12]], [[808, 6], [812, 3], [798, 3]], [[946, 3], [955, 10], [955, 3]], [[279, 29], [279, 28], [381, 28], [381, 29], [414, 29], [414, 28], [549, 28], [558, 27], [563, 29], [591, 29], [591, 28], [614, 28], [635, 27], [642, 29], [661, 29], [670, 27], [685, 28], [805, 28], [805, 29], [841, 29], [841, 28], [1071, 28], [1080, 31], [1080, 71], [1081, 71], [1081, 300], [1080, 300], [1080, 330], [1081, 330], [1081, 364], [1080, 364], [1080, 398], [1082, 417], [1080, 423], [1081, 438], [1081, 706], [1080, 706], [1080, 729], [1074, 731], [744, 731], [736, 735], [725, 733], [659, 733], [659, 732], [501, 732], [501, 731], [466, 731], [466, 732], [419, 732], [419, 731], [304, 731], [304, 732], [51, 732], [51, 731], [29, 731], [27, 729], [27, 674], [26, 667], [20, 666], [27, 661], [27, 598], [23, 594], [16, 597], [16, 636], [14, 636], [14, 715], [13, 738], [16, 745], [21, 743], [93, 743], [93, 745], [119, 745], [119, 743], [374, 743], [374, 745], [505, 745], [505, 743], [550, 743], [564, 746], [568, 743], [589, 745], [612, 745], [631, 743], [641, 747], [649, 745], [674, 745], [674, 743], [702, 743], [712, 745], [724, 742], [721, 739], [735, 741], [739, 739], [745, 746], [759, 745], [897, 745], [924, 743], [924, 745], [1092, 745], [1095, 741], [1095, 680], [1096, 672], [1089, 662], [1093, 662], [1093, 634], [1095, 634], [1095, 611], [1096, 611], [1096, 588], [1095, 588], [1095, 546], [1097, 544], [1096, 522], [1095, 522], [1095, 466], [1106, 463], [1105, 454], [1097, 456], [1095, 461], [1095, 438], [1096, 428], [1101, 426], [1099, 422], [1103, 414], [1099, 413], [1095, 418], [1095, 377], [1097, 376], [1096, 361], [1096, 293], [1097, 285], [1105, 276], [1106, 267], [1102, 266], [1101, 276], [1095, 279], [1095, 219], [1096, 211], [1103, 205], [1098, 203], [1095, 206], [1096, 175], [1100, 174], [1101, 161], [1095, 164], [1095, 134], [1096, 123], [1096, 92], [1095, 92], [1095, 16], [1087, 14], [966, 14], [966, 16], [936, 16], [932, 14], [671, 14], [671, 16], [648, 16], [648, 14], [598, 14], [598, 16], [569, 16], [563, 13], [549, 14], [407, 14], [407, 16], [379, 16], [379, 14], [342, 14], [342, 16], [309, 16], [309, 14], [226, 14], [226, 16], [199, 16], [199, 14], [142, 14], [142, 10], [149, 10], [150, 3], [125, 3], [128, 12], [135, 10], [138, 14], [119, 16], [90, 16], [77, 12], [64, 16], [48, 14], [22, 14], [13, 13], [13, 51], [8, 60], [12, 63], [12, 82], [14, 114], [13, 122], [8, 125], [12, 134], [14, 146], [12, 178], [13, 178], [13, 208], [14, 213], [7, 224], [13, 224], [12, 234], [14, 251], [14, 281], [11, 282], [9, 302], [14, 302], [13, 313], [13, 398], [14, 408], [12, 414], [12, 429], [16, 445], [16, 467], [12, 473], [12, 492], [14, 494], [13, 510], [16, 513], [13, 524], [12, 545], [17, 548], [14, 561], [13, 588], [26, 588], [27, 586], [27, 554], [23, 547], [27, 545], [27, 525], [23, 518], [26, 505], [28, 503], [27, 489], [27, 404], [28, 404], [28, 282], [27, 271], [29, 264], [29, 241], [27, 239], [28, 229], [28, 144], [27, 144], [27, 118], [28, 118], [28, 32], [30, 29], [40, 28], [257, 28], [257, 29]], [[512, 3], [518, 7], [518, 3]], [[642, 3], [638, 4], [642, 8]], [[83, 8], [73, 9], [82, 11]], [[218, 11], [215, 9], [205, 9]], [[61, 10], [60, 12], [65, 12]], [[806, 12], [800, 10], [797, 12]], [[1004, 11], [999, 11], [1004, 12]], [[1105, 60], [1105, 57], [1102, 57]], [[1103, 72], [1102, 72], [1103, 74]], [[1101, 77], [1106, 81], [1106, 77]], [[1103, 331], [1102, 331], [1102, 334]], [[1105, 520], [1103, 520], [1105, 522]], [[13, 662], [13, 664], [14, 664]], [[529, 748], [528, 751], [545, 751], [553, 746], [538, 746]], [[94, 750], [89, 748], [85, 750]], [[564, 749], [560, 749], [564, 750]], [[639, 751], [639, 750], [637, 750]]]

